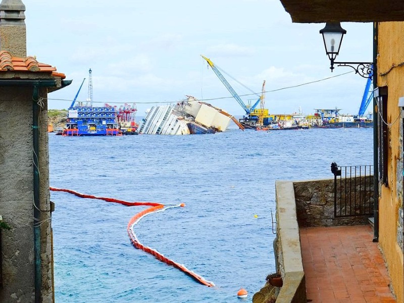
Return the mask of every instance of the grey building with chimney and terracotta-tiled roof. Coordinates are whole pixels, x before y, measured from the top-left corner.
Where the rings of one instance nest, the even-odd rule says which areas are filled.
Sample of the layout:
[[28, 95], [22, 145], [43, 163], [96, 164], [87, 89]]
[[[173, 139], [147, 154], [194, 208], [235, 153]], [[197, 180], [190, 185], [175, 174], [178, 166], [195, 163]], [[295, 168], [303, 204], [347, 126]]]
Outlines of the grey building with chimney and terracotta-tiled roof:
[[53, 302], [47, 93], [71, 81], [27, 57], [24, 11], [0, 4], [0, 302]]

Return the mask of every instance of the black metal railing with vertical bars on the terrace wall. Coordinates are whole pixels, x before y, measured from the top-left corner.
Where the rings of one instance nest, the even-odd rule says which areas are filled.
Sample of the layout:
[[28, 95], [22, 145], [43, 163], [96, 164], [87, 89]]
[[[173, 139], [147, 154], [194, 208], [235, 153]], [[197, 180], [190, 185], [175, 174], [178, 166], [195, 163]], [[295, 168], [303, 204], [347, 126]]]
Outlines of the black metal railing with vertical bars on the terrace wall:
[[334, 174], [334, 217], [373, 216], [373, 165], [338, 166]]

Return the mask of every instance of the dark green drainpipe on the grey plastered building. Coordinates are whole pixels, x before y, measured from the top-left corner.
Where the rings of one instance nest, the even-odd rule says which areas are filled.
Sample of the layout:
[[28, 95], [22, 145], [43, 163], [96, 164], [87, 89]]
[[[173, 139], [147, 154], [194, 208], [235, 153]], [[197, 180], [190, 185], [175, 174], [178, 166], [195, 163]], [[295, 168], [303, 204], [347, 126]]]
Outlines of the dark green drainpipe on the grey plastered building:
[[34, 163], [34, 251], [35, 251], [35, 303], [41, 300], [41, 230], [38, 222], [40, 221], [40, 202], [39, 202], [39, 88], [34, 85], [32, 92], [32, 138], [33, 138], [33, 163]]

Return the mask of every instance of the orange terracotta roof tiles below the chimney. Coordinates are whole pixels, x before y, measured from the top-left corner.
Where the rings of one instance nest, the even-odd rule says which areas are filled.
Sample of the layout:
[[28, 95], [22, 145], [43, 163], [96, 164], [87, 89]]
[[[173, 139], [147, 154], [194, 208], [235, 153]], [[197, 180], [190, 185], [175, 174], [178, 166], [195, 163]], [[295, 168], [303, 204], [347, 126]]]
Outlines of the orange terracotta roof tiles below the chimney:
[[52, 76], [65, 79], [63, 73], [56, 72], [56, 67], [36, 61], [35, 57], [27, 58], [12, 57], [7, 51], [0, 52], [0, 72], [5, 71], [19, 72], [52, 72]]

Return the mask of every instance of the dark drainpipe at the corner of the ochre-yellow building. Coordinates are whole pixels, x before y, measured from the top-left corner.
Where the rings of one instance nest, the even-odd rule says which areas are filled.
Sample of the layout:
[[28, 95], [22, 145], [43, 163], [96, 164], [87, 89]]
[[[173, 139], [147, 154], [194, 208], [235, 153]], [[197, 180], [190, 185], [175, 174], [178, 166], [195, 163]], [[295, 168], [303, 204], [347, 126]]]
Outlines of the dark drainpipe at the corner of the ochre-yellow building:
[[[379, 24], [373, 23], [373, 87], [377, 87], [377, 54]], [[376, 98], [373, 98], [373, 242], [379, 242], [379, 146], [378, 113]]]

